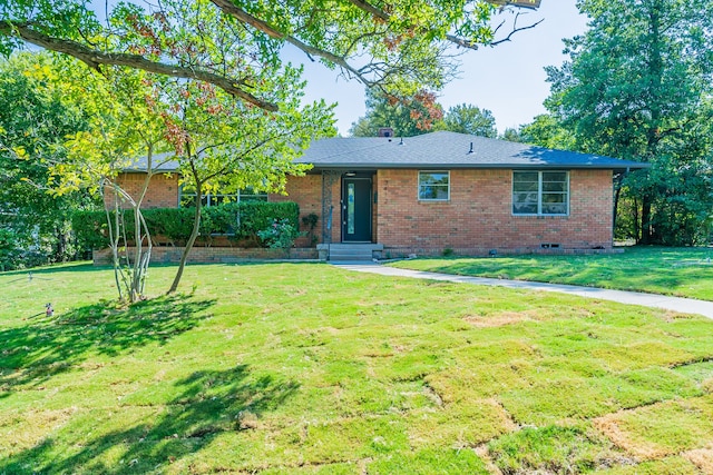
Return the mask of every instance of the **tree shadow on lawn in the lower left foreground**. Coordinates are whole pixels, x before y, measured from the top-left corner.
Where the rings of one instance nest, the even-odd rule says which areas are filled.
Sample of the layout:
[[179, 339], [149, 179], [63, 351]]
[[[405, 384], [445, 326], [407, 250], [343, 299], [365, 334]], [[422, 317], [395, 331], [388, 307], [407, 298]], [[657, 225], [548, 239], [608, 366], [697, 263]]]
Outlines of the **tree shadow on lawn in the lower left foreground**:
[[[162, 466], [201, 451], [221, 434], [256, 428], [260, 416], [282, 405], [299, 384], [255, 377], [240, 365], [194, 373], [175, 387], [180, 394], [167, 400], [166, 410], [155, 417], [141, 417], [140, 424], [104, 434], [101, 426], [91, 427], [92, 434], [99, 434], [95, 438], [82, 434], [81, 427], [72, 428], [70, 422], [56, 438], [0, 462], [0, 473], [163, 472]], [[113, 412], [114, 417], [123, 417], [120, 407]], [[244, 447], [227, 452], [238, 458]]]

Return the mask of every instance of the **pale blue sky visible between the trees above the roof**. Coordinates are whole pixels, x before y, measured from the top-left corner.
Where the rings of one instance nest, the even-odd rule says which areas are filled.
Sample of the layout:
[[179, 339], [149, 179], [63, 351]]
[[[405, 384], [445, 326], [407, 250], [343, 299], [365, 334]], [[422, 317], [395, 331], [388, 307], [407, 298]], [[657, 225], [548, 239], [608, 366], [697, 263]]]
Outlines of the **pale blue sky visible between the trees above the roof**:
[[[587, 20], [577, 11], [575, 0], [541, 0], [539, 10], [521, 11], [527, 12], [520, 17], [522, 26], [544, 21], [518, 32], [510, 42], [467, 52], [461, 58], [459, 77], [439, 93], [438, 101], [446, 110], [459, 103], [488, 109], [499, 132], [531, 122], [545, 112], [543, 101], [549, 96], [549, 83], [544, 68], [563, 63], [566, 57], [561, 53], [561, 39], [583, 33]], [[352, 122], [365, 112], [364, 87], [320, 63], [311, 63], [299, 51], [289, 56], [293, 61], [304, 61], [306, 99], [336, 102], [336, 126], [340, 135], [348, 136]]]

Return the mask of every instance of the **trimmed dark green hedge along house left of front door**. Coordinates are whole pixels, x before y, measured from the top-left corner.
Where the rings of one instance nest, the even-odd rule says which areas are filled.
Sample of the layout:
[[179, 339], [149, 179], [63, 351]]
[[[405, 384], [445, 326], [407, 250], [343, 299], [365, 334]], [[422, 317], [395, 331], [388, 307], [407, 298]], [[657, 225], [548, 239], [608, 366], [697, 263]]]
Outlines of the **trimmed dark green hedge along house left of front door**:
[[[154, 208], [141, 211], [152, 237], [162, 236], [179, 246], [193, 229], [195, 208]], [[124, 210], [127, 238], [134, 236], [130, 209]], [[296, 202], [244, 201], [211, 206], [201, 212], [201, 237], [226, 235], [233, 240], [260, 243], [257, 231], [275, 219], [289, 219], [299, 229], [300, 207]], [[111, 211], [114, 219], [114, 211]], [[101, 249], [109, 245], [106, 211], [78, 211], [72, 216], [72, 229], [82, 249]]]

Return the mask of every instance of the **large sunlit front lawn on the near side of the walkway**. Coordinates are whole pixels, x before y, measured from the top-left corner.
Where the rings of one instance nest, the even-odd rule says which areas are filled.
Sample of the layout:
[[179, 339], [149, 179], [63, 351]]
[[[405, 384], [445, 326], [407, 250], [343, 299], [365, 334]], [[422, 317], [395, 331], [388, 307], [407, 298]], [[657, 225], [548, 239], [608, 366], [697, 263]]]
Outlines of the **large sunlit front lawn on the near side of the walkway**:
[[0, 474], [713, 465], [703, 318], [320, 264], [191, 266], [128, 308], [108, 269], [33, 276], [0, 274]]

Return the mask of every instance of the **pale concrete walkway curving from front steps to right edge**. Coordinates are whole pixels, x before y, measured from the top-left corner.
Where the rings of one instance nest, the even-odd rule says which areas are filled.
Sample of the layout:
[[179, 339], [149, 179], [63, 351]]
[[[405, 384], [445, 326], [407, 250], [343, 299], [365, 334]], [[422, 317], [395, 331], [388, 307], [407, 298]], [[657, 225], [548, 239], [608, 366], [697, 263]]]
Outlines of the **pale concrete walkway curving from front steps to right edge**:
[[558, 291], [580, 297], [613, 300], [621, 304], [642, 305], [644, 307], [665, 308], [683, 314], [697, 314], [713, 319], [713, 301], [693, 298], [668, 297], [665, 295], [644, 294], [641, 291], [608, 290], [604, 288], [579, 287], [564, 284], [544, 284], [525, 280], [502, 280], [485, 277], [455, 276], [449, 274], [427, 273], [422, 270], [398, 269], [371, 263], [333, 263], [342, 269], [359, 273], [380, 274], [382, 276], [413, 277], [418, 279], [446, 280], [451, 283], [487, 285], [529, 290]]

